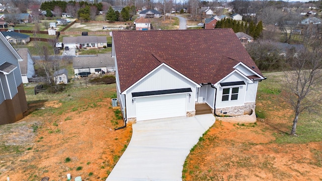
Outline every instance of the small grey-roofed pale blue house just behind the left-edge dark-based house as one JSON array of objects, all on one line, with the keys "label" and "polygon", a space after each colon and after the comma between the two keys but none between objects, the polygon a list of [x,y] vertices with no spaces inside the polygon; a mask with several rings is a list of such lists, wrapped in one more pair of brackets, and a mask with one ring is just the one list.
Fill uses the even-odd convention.
[{"label": "small grey-roofed pale blue house just behind the left-edge dark-based house", "polygon": [[21,77],[23,83],[29,83],[28,78],[32,78],[35,75],[35,62],[28,48],[19,48],[17,50],[20,57],[23,59],[19,62],[19,67],[21,70]]}]

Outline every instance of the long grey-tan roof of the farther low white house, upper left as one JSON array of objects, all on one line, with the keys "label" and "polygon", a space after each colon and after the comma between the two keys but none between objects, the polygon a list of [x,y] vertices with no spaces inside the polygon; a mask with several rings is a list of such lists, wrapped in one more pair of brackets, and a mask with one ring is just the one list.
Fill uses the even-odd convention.
[{"label": "long grey-tan roof of the farther low white house, upper left", "polygon": [[107,42],[106,36],[77,36],[63,37],[63,43],[103,43]]}]

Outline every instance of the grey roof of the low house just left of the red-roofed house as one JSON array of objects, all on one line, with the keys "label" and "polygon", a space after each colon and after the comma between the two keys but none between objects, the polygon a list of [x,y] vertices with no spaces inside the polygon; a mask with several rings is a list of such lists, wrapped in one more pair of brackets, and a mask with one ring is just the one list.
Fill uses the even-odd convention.
[{"label": "grey roof of the low house just left of the red-roofed house", "polygon": [[73,68],[115,66],[111,53],[96,56],[77,56],[72,58]]}]

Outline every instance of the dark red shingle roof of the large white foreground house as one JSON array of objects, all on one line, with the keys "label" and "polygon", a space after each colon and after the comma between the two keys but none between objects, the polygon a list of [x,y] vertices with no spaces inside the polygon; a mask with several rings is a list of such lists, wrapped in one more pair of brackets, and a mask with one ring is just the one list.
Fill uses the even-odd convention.
[{"label": "dark red shingle roof of the large white foreground house", "polygon": [[162,63],[198,84],[218,82],[239,62],[262,75],[232,29],[115,31],[113,43],[121,92]]}]

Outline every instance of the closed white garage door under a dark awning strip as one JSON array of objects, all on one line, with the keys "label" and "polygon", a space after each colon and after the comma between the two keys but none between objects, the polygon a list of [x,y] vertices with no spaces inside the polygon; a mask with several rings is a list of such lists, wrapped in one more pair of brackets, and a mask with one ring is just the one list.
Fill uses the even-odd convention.
[{"label": "closed white garage door under a dark awning strip", "polygon": [[186,116],[187,95],[136,99],[136,121]]}]

